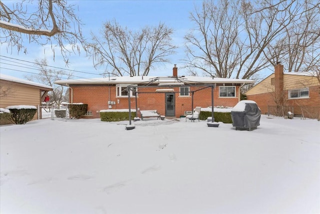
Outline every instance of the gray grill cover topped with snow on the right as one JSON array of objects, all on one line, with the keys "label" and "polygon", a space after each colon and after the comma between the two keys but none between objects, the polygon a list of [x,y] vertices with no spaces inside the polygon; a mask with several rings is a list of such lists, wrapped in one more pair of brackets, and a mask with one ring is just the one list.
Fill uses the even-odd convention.
[{"label": "gray grill cover topped with snow on the right", "polygon": [[232,126],[251,130],[260,125],[261,111],[256,103],[245,103],[244,111],[231,111]]}]

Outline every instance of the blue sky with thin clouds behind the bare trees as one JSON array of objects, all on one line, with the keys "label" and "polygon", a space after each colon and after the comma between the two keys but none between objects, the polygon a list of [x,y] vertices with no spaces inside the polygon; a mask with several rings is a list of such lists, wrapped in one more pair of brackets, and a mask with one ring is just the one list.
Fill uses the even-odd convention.
[{"label": "blue sky with thin clouds behind the bare trees", "polygon": [[[82,27],[83,35],[90,38],[90,32],[99,33],[102,29],[102,24],[106,21],[115,19],[122,27],[135,30],[146,25],[155,26],[160,22],[166,26],[174,29],[172,35],[172,42],[179,48],[177,53],[170,57],[171,63],[159,66],[154,71],[151,71],[149,75],[165,76],[172,74],[173,64],[177,64],[177,67],[182,66],[180,62],[184,58],[183,52],[183,36],[192,28],[192,23],[189,20],[189,13],[194,10],[194,7],[199,7],[201,1],[68,1],[69,4],[78,6],[78,11],[75,13],[78,15],[84,26]],[[53,61],[52,53],[49,47],[41,47],[37,44],[25,44],[27,47],[27,54],[17,53],[16,48],[13,47],[7,51],[5,46],[1,46],[1,56],[13,58],[1,57],[1,70],[3,74],[10,76],[23,78],[24,76],[31,75],[30,73],[36,73],[34,69],[27,69],[22,67],[12,67],[10,65],[2,64],[14,64],[10,61],[16,61],[15,59],[24,60],[28,62],[34,62],[35,59],[43,59],[44,57],[48,61],[48,65],[59,68],[65,68],[65,64],[62,58],[59,56],[59,52],[55,53],[55,60]],[[5,60],[3,60],[5,59]],[[32,63],[23,62],[25,65],[33,66]],[[24,67],[29,67],[24,66]],[[12,71],[5,68],[11,68]],[[92,60],[85,56],[85,53],[81,53],[80,56],[74,55],[70,57],[70,64],[67,69],[75,71],[83,71],[95,74],[104,73],[104,68],[95,70],[92,65]],[[23,72],[24,71],[24,72]],[[100,77],[98,75],[87,75],[83,73],[74,72],[75,78],[95,78]],[[179,75],[185,75],[185,70],[178,69]]]}]

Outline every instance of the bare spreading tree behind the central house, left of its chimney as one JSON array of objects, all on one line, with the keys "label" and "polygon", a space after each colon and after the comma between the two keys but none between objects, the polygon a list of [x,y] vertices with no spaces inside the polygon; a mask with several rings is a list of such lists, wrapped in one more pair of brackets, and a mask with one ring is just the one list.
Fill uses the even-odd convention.
[{"label": "bare spreading tree behind the central house, left of its chimney", "polygon": [[164,24],[144,27],[136,32],[115,21],[103,26],[102,38],[92,35],[88,45],[94,66],[107,66],[114,75],[147,76],[157,63],[169,62],[176,48],[171,44],[173,30]]}]

